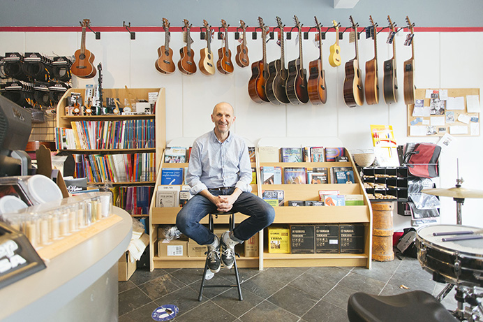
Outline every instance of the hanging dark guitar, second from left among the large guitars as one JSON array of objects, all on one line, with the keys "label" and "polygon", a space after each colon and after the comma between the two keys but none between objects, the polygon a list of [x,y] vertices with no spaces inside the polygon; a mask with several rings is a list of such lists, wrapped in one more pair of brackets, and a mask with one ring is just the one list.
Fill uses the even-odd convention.
[{"label": "hanging dark guitar, second from left among the large guitars", "polygon": [[278,35],[280,36],[280,59],[276,59],[268,64],[268,79],[265,86],[267,98],[270,102],[278,105],[280,103],[290,103],[285,92],[285,83],[287,82],[288,71],[285,68],[285,41],[283,36],[283,24],[279,17],[276,17],[278,28],[280,29]]}]

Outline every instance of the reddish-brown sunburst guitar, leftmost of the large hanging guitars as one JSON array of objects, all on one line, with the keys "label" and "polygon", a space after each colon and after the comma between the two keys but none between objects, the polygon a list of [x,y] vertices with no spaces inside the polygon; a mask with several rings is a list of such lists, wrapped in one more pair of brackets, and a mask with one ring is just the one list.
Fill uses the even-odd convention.
[{"label": "reddish-brown sunburst guitar, leftmost of the large hanging guitars", "polygon": [[263,58],[251,64],[251,78],[248,80],[248,95],[255,103],[269,102],[265,92],[265,83],[268,78],[267,67],[267,43],[265,38],[269,28],[265,26],[261,17],[258,17],[260,29],[262,29]]}]

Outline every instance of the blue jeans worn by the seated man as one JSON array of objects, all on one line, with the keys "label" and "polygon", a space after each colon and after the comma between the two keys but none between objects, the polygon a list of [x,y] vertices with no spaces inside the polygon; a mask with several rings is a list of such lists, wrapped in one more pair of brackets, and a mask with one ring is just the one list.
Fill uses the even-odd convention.
[{"label": "blue jeans worn by the seated man", "polygon": [[[220,196],[222,194],[230,195],[234,190],[235,188],[224,191],[209,189],[209,192],[214,196]],[[233,230],[235,240],[240,243],[272,224],[275,219],[274,208],[251,192],[242,192],[233,204],[232,210],[250,216],[241,221]],[[188,200],[188,203],[178,212],[176,226],[181,233],[195,240],[198,244],[211,244],[214,242],[214,233],[211,233],[206,226],[200,224],[200,220],[212,212],[216,212],[216,205],[198,194]]]}]

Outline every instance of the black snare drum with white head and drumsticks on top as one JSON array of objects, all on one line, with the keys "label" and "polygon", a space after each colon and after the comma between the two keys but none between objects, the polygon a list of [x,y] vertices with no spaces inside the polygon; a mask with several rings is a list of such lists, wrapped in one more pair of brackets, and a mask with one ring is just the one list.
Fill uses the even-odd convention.
[{"label": "black snare drum with white head and drumsticks on top", "polygon": [[481,235],[482,228],[462,225],[419,228],[417,259],[424,270],[433,273],[433,276],[435,272],[438,273],[448,283],[483,287],[483,239],[443,242],[442,238],[456,235],[433,235],[457,231],[473,231]]}]

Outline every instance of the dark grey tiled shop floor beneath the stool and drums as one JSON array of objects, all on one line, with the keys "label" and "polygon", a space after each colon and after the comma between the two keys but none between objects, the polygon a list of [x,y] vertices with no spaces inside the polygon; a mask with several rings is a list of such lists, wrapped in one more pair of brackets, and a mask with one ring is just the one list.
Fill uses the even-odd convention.
[{"label": "dark grey tiled shop floor beneath the stool and drums", "polygon": [[[205,288],[198,302],[202,270],[137,270],[129,281],[119,282],[119,321],[154,321],[154,309],[168,304],[179,307],[172,321],[348,321],[347,302],[352,293],[394,295],[423,290],[438,295],[444,286],[434,282],[415,258],[373,261],[371,270],[244,268],[239,272],[243,301],[238,300],[236,288]],[[222,268],[209,282],[225,284],[226,279],[235,283],[232,272]],[[456,309],[454,291],[443,304]]]}]

